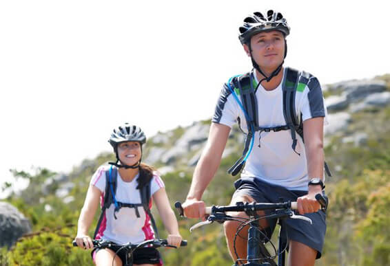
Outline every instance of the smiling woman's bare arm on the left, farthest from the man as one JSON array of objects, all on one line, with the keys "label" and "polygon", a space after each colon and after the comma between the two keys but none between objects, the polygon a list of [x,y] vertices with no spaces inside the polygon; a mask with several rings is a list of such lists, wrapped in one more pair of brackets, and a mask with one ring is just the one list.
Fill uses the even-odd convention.
[{"label": "smiling woman's bare arm on the left, farthest from the man", "polygon": [[88,230],[94,219],[96,209],[99,206],[101,191],[96,186],[90,185],[88,188],[87,196],[85,197],[83,208],[81,208],[81,213],[79,217],[79,222],[77,226],[77,236],[76,243],[79,247],[92,248],[92,239],[88,236]]}]

